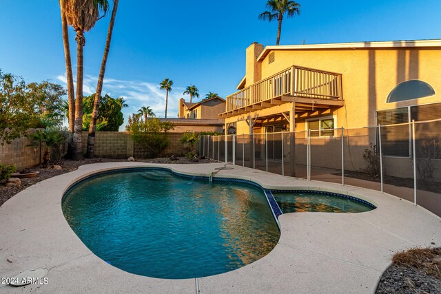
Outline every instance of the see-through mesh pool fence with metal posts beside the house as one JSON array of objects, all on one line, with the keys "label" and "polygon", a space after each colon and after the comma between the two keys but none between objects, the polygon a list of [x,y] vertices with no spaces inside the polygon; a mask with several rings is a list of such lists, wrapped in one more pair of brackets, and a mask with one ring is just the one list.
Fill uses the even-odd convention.
[{"label": "see-through mesh pool fence with metal posts beside the house", "polygon": [[282,176],[338,182],[441,216],[441,119],[358,129],[201,136],[199,154]]}]

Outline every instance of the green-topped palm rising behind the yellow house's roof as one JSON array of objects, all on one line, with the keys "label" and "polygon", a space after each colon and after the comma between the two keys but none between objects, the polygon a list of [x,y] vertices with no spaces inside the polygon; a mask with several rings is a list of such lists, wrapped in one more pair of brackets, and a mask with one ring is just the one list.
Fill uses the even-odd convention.
[{"label": "green-topped palm rising behind the yellow house's roof", "polygon": [[288,17],[294,17],[294,15],[300,14],[300,4],[289,0],[268,0],[267,8],[271,11],[265,11],[259,14],[258,19],[263,21],[278,20],[277,42],[280,41],[280,32],[282,31],[283,15],[286,13]]}]

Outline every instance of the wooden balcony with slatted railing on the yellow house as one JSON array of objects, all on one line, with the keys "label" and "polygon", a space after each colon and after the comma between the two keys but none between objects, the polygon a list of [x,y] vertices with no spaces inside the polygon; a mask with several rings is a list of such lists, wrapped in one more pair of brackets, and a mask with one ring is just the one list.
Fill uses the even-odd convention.
[{"label": "wooden balcony with slatted railing on the yellow house", "polygon": [[342,106],[342,75],[293,65],[227,96],[227,118],[287,102]]}]

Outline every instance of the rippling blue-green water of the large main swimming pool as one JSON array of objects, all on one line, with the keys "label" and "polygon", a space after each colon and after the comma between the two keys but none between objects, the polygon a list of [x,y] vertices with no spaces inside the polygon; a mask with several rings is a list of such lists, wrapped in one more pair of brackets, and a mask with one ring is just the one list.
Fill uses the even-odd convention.
[{"label": "rippling blue-green water of the large main swimming pool", "polygon": [[168,171],[97,176],[74,186],[63,213],[99,258],[150,277],[204,277],[271,251],[280,231],[262,189]]}]

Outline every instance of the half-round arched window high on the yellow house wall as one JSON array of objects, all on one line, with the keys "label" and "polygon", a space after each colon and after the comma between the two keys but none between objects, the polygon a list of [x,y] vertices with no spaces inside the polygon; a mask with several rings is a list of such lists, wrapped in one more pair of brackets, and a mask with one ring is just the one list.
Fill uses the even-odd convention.
[{"label": "half-round arched window high on the yellow house wall", "polygon": [[433,87],[420,80],[405,81],[398,84],[387,96],[387,103],[400,102],[411,99],[435,95]]}]

